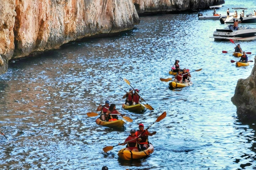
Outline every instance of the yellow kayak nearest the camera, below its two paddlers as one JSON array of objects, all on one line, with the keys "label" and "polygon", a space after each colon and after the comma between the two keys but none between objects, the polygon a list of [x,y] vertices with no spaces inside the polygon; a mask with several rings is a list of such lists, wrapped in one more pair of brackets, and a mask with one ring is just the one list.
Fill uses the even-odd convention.
[{"label": "yellow kayak nearest the camera, below its two paddlers", "polygon": [[146,156],[149,156],[151,153],[154,152],[154,146],[149,143],[149,147],[147,150],[143,150],[140,152],[134,152],[134,151],[129,151],[125,150],[125,148],[121,149],[118,151],[118,157],[123,160],[132,160],[132,159],[141,159]]}]

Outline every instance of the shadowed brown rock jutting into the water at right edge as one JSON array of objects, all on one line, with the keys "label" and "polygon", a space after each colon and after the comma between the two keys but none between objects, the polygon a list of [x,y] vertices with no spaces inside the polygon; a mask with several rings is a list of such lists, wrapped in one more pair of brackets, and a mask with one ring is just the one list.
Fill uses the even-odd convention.
[{"label": "shadowed brown rock jutting into the water at right edge", "polygon": [[256,55],[251,75],[246,79],[239,79],[235,94],[231,101],[237,107],[237,115],[241,119],[256,119]]}]

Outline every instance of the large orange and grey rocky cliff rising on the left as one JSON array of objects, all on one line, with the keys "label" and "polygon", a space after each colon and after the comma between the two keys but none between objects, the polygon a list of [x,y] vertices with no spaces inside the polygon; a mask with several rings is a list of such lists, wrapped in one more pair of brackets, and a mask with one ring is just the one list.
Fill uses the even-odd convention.
[{"label": "large orange and grey rocky cliff rising on the left", "polygon": [[8,60],[76,39],[132,29],[131,0],[0,0],[0,73]]}]

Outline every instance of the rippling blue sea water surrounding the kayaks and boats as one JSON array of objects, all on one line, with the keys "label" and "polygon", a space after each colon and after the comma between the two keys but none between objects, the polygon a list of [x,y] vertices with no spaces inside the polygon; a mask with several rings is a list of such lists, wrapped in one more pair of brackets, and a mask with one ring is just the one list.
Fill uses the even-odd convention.
[{"label": "rippling blue sea water surrounding the kayaks and boats", "polygon": [[[231,8],[235,1],[226,2]],[[248,4],[251,5],[252,2]],[[222,9],[226,11],[226,9]],[[209,11],[205,11],[209,12]],[[10,62],[0,76],[1,169],[253,169],[255,124],[241,123],[230,98],[239,78],[250,75],[253,65],[237,68],[222,50],[230,42],[209,39],[219,21],[199,21],[196,13],[141,17],[134,30],[108,38],[71,42],[36,58]],[[255,41],[242,42],[255,53]],[[254,55],[249,55],[253,59]],[[168,89],[168,71],[174,60],[193,72],[193,86]],[[98,103],[110,100],[121,113],[123,78],[140,90],[155,110],[139,116],[126,129],[97,126]],[[143,123],[157,131],[149,141],[154,153],[145,159],[122,161],[116,146],[131,128]],[[128,115],[127,115],[128,116]]]}]

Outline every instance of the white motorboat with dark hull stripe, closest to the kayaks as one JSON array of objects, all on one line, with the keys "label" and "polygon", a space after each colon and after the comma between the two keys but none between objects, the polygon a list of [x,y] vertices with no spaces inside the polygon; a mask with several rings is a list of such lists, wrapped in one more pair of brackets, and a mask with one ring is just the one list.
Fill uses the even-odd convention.
[{"label": "white motorboat with dark hull stripe, closest to the kayaks", "polygon": [[232,40],[255,40],[256,28],[249,25],[241,25],[238,30],[233,30],[233,26],[229,25],[224,29],[216,29],[213,32],[214,41],[229,41]]}]

